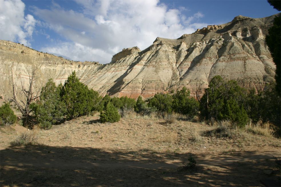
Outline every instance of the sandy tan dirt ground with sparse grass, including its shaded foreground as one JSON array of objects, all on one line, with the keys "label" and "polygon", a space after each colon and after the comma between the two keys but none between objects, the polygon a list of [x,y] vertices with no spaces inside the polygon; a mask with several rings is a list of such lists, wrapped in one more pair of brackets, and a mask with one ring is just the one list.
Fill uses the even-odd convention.
[{"label": "sandy tan dirt ground with sparse grass, including its shaded foreground", "polygon": [[[81,117],[51,130],[1,128],[1,186],[264,186],[280,180],[280,139],[239,132],[208,136],[215,127],[179,120],[121,118],[100,124]],[[35,146],[10,146],[22,132]],[[188,158],[194,169],[186,170]],[[280,183],[279,183],[280,184]]]}]

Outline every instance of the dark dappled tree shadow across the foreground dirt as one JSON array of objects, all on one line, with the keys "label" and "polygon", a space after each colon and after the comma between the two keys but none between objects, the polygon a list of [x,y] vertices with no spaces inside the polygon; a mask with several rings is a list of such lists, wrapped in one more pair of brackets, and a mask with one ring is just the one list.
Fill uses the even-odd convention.
[{"label": "dark dappled tree shadow across the foreground dirt", "polygon": [[[27,146],[1,150],[1,186],[262,186],[276,178],[271,152],[192,155],[194,171],[179,169],[191,154],[152,150]],[[265,174],[265,170],[272,170]],[[274,173],[275,172],[275,173]]]}]

